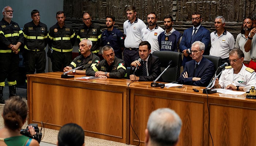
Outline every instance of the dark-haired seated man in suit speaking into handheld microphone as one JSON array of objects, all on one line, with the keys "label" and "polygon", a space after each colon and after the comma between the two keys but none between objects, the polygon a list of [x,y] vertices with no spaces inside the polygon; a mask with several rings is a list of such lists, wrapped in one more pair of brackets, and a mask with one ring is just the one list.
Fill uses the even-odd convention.
[{"label": "dark-haired seated man in suit speaking into handheld microphone", "polygon": [[[138,61],[138,59],[141,59]],[[139,57],[135,58],[135,61],[131,63],[131,66],[138,65],[138,68],[135,71],[135,68],[133,68],[134,74],[130,75],[131,81],[154,81],[160,74],[161,74],[161,68],[160,68],[160,59],[154,55],[151,54],[151,45],[148,41],[142,41],[139,44]],[[158,81],[161,81],[158,80]]]}]

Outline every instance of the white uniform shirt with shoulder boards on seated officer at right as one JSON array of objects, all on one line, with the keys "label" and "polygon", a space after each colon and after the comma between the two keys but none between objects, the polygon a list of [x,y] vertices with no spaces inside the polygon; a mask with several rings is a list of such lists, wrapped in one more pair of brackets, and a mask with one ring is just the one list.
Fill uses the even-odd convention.
[{"label": "white uniform shirt with shoulder boards on seated officer at right", "polygon": [[255,85],[256,83],[256,73],[249,72],[245,70],[247,67],[243,64],[240,72],[238,74],[234,74],[234,69],[229,68],[225,69],[221,77],[219,78],[219,85],[221,88],[226,88],[227,85],[233,84],[234,86],[246,87]]}]

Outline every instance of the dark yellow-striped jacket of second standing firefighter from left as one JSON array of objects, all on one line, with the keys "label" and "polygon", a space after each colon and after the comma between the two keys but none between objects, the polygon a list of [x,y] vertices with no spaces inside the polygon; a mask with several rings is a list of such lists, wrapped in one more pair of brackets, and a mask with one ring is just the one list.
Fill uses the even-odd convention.
[{"label": "dark yellow-striped jacket of second standing firefighter from left", "polygon": [[24,25],[24,48],[27,50],[45,50],[48,43],[48,29],[46,24],[39,22],[36,26],[33,21]]}]

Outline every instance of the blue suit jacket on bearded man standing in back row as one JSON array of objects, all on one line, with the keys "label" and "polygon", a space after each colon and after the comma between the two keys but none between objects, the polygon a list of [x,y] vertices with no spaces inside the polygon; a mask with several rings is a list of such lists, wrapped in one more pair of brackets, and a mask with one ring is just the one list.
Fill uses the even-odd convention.
[{"label": "blue suit jacket on bearded man standing in back row", "polygon": [[[182,53],[183,50],[186,49],[191,49],[191,45],[193,42],[195,41],[201,41],[204,43],[205,48],[207,49],[208,44],[211,41],[211,37],[210,37],[210,32],[204,28],[202,25],[199,27],[199,29],[197,30],[195,37],[193,38],[193,40],[191,40],[192,37],[192,32],[193,32],[193,27],[188,28],[187,30],[184,31],[183,35],[182,35],[182,39],[180,42],[180,52]],[[182,60],[182,66],[185,66],[185,63],[192,60],[191,57],[185,57]]]}]

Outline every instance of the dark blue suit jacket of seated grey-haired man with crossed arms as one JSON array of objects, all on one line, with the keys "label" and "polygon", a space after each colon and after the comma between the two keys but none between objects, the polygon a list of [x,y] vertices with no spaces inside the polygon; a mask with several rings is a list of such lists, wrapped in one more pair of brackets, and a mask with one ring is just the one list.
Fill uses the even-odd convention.
[{"label": "dark blue suit jacket of seated grey-haired man with crossed arms", "polygon": [[195,73],[195,77],[199,77],[201,80],[192,81],[195,65],[195,60],[191,60],[186,63],[182,74],[187,72],[188,78],[184,78],[181,74],[181,76],[178,78],[179,84],[207,87],[215,73],[214,64],[210,60],[203,57]]}]

